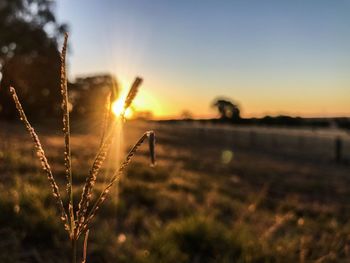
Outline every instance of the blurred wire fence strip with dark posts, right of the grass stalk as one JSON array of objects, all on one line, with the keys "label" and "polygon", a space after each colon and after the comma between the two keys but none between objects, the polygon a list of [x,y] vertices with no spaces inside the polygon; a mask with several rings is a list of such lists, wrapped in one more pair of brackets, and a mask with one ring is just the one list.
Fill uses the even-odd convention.
[{"label": "blurred wire fence strip with dark posts, right of the grass stalk", "polygon": [[247,126],[157,124],[155,129],[194,135],[222,147],[241,147],[305,159],[350,163],[350,135],[341,130],[307,130]]}]

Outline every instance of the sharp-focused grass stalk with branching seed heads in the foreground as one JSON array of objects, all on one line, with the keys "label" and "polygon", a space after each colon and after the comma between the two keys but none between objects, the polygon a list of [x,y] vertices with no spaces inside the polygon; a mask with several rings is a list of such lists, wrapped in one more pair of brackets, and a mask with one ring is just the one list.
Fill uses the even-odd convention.
[{"label": "sharp-focused grass stalk with branching seed heads in the foreground", "polygon": [[[86,262],[86,249],[88,242],[89,230],[91,228],[92,219],[95,217],[97,210],[100,208],[101,204],[108,197],[108,193],[111,187],[120,179],[120,176],[123,174],[134,154],[140,145],[148,139],[149,149],[151,156],[152,165],[155,164],[155,135],[153,131],[147,131],[144,133],[141,138],[136,142],[132,147],[129,153],[126,155],[124,162],[120,167],[113,173],[110,178],[109,183],[105,186],[103,191],[100,193],[98,198],[94,201],[93,205],[90,205],[92,190],[95,185],[97,176],[100,173],[100,169],[103,165],[104,160],[106,159],[109,148],[113,142],[114,131],[116,130],[117,122],[115,118],[111,115],[111,96],[107,98],[106,107],[107,111],[104,116],[102,138],[100,148],[96,154],[92,167],[89,171],[89,174],[86,178],[85,185],[83,187],[83,192],[79,201],[78,207],[74,207],[74,195],[73,195],[73,174],[72,174],[72,165],[71,165],[71,147],[70,147],[70,124],[69,124],[69,109],[68,109],[68,89],[67,89],[67,74],[66,74],[66,50],[67,50],[67,39],[68,35],[65,35],[64,44],[61,53],[61,93],[62,93],[62,109],[63,109],[63,133],[65,141],[65,151],[64,151],[64,162],[65,162],[65,174],[67,180],[67,195],[69,197],[69,202],[67,207],[65,207],[62,197],[60,195],[59,187],[53,176],[51,167],[47,161],[43,147],[41,146],[38,135],[36,134],[34,128],[29,123],[25,112],[22,108],[22,105],[17,97],[16,91],[13,87],[10,87],[10,92],[12,94],[13,100],[16,104],[16,108],[20,115],[21,121],[24,123],[26,129],[28,130],[35,146],[35,150],[38,158],[40,159],[41,166],[45,171],[47,178],[50,182],[53,197],[57,203],[57,208],[60,213],[60,219],[64,224],[65,230],[68,232],[69,239],[71,241],[72,249],[72,263],[77,262],[77,241],[84,235],[83,242],[83,259],[82,262]],[[130,91],[124,101],[123,111],[120,114],[119,118],[124,119],[125,111],[130,107],[132,101],[134,100],[138,88],[142,83],[141,78],[136,78],[132,84]]]}]

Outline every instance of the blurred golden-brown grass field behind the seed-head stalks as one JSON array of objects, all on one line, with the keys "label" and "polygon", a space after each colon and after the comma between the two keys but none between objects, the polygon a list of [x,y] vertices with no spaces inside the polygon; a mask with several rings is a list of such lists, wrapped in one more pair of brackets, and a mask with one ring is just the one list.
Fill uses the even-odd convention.
[{"label": "blurred golden-brown grass field behind the seed-head stalks", "polygon": [[[128,124],[125,149],[151,128],[157,166],[143,146],[94,221],[88,262],[348,262],[349,165],[291,157],[283,145],[243,147],[215,129],[202,136],[154,123]],[[44,126],[38,133],[64,193],[62,136]],[[97,132],[73,130],[76,185],[98,143]],[[0,262],[68,262],[32,148],[19,122],[0,123]],[[107,160],[97,190],[116,165]]]}]

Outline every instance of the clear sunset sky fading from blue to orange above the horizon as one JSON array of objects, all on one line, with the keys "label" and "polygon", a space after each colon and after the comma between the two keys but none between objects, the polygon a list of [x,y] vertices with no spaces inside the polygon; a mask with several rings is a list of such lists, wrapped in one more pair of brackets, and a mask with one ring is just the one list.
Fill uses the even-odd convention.
[{"label": "clear sunset sky fading from blue to orange above the horizon", "polygon": [[217,96],[243,116],[350,116],[349,0],[59,0],[70,76],[113,73],[166,118],[214,117]]}]

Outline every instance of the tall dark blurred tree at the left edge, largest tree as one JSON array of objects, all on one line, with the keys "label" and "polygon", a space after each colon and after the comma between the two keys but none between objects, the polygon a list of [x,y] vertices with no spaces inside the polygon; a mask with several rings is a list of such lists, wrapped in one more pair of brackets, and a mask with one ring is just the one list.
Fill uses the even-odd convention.
[{"label": "tall dark blurred tree at the left edge, largest tree", "polygon": [[[42,117],[59,107],[57,42],[66,30],[56,22],[51,0],[0,1],[0,116],[16,116],[8,93],[16,87],[28,115]],[[49,33],[48,33],[49,32]]]}]

